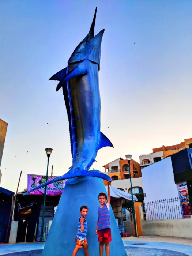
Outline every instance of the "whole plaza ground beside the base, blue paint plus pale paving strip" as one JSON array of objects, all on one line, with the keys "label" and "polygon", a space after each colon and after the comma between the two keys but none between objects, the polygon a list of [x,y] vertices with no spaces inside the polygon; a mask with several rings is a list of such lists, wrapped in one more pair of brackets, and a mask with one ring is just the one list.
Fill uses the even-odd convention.
[{"label": "whole plaza ground beside the base, blue paint plus pale paving strip", "polygon": [[[142,236],[125,237],[123,242],[128,256],[192,256],[192,238]],[[41,256],[43,248],[44,243],[2,244],[0,255]]]}]

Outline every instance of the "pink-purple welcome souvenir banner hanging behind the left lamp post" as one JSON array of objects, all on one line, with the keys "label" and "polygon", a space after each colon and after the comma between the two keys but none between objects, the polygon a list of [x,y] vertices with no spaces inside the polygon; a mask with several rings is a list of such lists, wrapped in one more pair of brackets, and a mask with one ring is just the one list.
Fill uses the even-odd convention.
[{"label": "pink-purple welcome souvenir banner hanging behind the left lamp post", "polygon": [[[53,180],[54,178],[57,178],[57,177],[59,176],[48,176],[48,180]],[[45,183],[45,181],[46,181],[46,176],[44,175],[27,174],[27,191],[37,187],[38,185]],[[47,186],[47,195],[60,196],[63,192],[66,181],[67,180],[60,180],[60,181],[56,181],[49,184]],[[29,194],[44,195],[44,193],[45,193],[45,187],[41,187],[39,189],[36,189],[30,192]]]}]

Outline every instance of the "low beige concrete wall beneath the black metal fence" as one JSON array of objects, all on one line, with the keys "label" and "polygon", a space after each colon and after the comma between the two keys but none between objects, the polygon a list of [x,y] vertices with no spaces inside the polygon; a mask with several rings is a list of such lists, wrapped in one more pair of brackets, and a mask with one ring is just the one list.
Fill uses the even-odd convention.
[{"label": "low beige concrete wall beneath the black metal fence", "polygon": [[163,219],[141,221],[142,236],[171,236],[192,238],[192,219]]}]

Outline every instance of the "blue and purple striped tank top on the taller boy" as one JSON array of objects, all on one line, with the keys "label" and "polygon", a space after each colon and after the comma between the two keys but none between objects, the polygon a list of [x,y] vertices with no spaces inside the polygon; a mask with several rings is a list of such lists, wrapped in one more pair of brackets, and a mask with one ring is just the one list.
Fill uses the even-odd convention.
[{"label": "blue and purple striped tank top on the taller boy", "polygon": [[110,228],[110,212],[105,204],[102,208],[98,208],[98,230]]}]

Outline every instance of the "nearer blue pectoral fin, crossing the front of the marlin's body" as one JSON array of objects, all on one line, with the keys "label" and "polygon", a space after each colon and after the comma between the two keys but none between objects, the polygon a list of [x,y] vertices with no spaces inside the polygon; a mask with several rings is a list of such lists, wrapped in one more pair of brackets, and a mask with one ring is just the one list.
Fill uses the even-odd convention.
[{"label": "nearer blue pectoral fin, crossing the front of the marlin's body", "polygon": [[61,80],[61,82],[57,85],[56,91],[58,91],[63,83],[69,81],[70,79],[79,76],[79,75],[85,75],[87,74],[87,68],[84,64],[84,61],[79,63],[74,69],[72,69],[68,74],[64,76],[64,78]]}]

